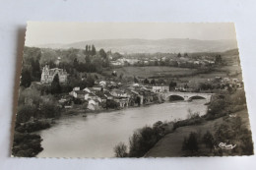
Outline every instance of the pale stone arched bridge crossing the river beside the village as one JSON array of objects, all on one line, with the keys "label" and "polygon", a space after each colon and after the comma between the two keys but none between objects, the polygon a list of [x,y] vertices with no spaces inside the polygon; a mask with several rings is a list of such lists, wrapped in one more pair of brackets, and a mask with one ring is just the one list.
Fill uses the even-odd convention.
[{"label": "pale stone arched bridge crossing the river beside the village", "polygon": [[164,100],[169,100],[171,96],[178,97],[181,100],[189,101],[193,99],[206,99],[207,102],[211,101],[213,93],[200,93],[200,92],[180,92],[180,91],[168,91],[161,93]]}]

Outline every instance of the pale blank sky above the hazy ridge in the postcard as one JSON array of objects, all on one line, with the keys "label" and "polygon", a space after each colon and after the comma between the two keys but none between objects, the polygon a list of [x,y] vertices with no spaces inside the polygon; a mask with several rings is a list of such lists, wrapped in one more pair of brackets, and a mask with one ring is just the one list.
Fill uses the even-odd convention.
[{"label": "pale blank sky above the hazy ridge in the postcard", "polygon": [[28,22],[27,46],[73,43],[94,39],[164,39],[201,40],[235,39],[232,23],[42,23]]}]

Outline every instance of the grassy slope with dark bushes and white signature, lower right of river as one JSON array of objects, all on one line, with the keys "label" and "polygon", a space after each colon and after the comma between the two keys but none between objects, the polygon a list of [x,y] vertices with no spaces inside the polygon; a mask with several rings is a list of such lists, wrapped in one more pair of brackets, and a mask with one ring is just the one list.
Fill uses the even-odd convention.
[{"label": "grassy slope with dark bushes and white signature, lower right of river", "polygon": [[251,155],[253,143],[249,125],[243,91],[216,96],[205,116],[176,122],[174,131],[157,142],[145,156]]}]

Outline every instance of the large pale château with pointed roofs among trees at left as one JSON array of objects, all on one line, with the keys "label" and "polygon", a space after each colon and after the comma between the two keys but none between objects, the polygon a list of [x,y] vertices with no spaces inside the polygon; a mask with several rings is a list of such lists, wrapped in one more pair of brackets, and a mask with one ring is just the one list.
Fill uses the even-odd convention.
[{"label": "large pale ch\u00e2teau with pointed roofs among trees at left", "polygon": [[63,69],[59,69],[59,68],[53,68],[50,69],[48,65],[45,65],[42,68],[42,72],[41,72],[41,83],[43,84],[48,84],[51,83],[55,77],[55,75],[59,76],[59,83],[66,83],[67,82],[67,72]]}]

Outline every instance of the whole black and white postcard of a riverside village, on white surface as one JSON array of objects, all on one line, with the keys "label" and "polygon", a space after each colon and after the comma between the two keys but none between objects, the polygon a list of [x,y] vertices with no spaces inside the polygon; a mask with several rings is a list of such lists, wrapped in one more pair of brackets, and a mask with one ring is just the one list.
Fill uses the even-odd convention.
[{"label": "whole black and white postcard of a riverside village, on white surface", "polygon": [[252,155],[232,23],[43,23],[26,32],[12,156]]}]

